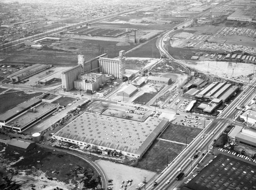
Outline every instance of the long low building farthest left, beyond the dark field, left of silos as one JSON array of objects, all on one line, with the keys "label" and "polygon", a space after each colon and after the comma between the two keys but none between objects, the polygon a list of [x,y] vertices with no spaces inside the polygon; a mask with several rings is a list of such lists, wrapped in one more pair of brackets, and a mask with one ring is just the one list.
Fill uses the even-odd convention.
[{"label": "long low building farthest left, beyond the dark field, left of silos", "polygon": [[20,71],[14,72],[13,74],[7,76],[7,78],[18,82],[20,80],[23,80],[25,78],[28,78],[30,76],[33,76],[39,72],[42,72],[48,68],[51,68],[52,65],[42,65],[42,64],[35,64],[30,67],[24,68]]}]

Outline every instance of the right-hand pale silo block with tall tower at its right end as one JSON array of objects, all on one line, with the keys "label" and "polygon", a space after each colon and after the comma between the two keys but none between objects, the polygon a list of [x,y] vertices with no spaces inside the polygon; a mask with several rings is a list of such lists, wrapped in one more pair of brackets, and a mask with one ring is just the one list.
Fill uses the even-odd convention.
[{"label": "right-hand pale silo block with tall tower at its right end", "polygon": [[118,59],[99,58],[100,72],[113,74],[116,78],[122,79],[125,73],[124,50],[119,51]]}]

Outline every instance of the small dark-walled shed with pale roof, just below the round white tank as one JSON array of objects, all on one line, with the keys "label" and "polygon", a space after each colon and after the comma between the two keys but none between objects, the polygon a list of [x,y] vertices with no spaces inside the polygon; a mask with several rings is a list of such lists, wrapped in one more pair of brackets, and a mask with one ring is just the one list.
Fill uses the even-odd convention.
[{"label": "small dark-walled shed with pale roof, just below the round white tank", "polygon": [[11,139],[8,143],[8,149],[11,151],[29,151],[34,149],[36,146],[35,142],[25,139]]}]

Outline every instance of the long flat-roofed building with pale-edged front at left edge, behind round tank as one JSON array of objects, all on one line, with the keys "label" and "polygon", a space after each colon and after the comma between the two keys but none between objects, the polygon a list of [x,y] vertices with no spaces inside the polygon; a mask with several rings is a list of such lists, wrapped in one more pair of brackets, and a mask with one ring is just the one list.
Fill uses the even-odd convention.
[{"label": "long flat-roofed building with pale-edged front at left edge, behind round tank", "polygon": [[0,127],[18,132],[31,127],[57,109],[56,105],[31,99],[0,115]]}]

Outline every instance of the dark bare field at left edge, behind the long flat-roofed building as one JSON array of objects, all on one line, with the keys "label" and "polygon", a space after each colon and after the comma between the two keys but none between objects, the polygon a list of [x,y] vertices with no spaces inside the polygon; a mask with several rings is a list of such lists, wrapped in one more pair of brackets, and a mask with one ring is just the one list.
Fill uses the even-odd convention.
[{"label": "dark bare field at left edge, behind the long flat-roofed building", "polygon": [[5,93],[0,95],[0,114],[5,113],[8,110],[11,110],[16,105],[28,101],[29,99],[41,95],[41,92],[38,93],[29,93],[27,94],[24,91]]}]

